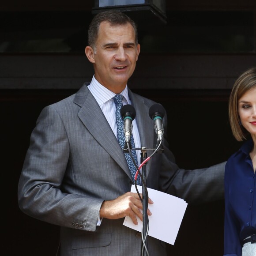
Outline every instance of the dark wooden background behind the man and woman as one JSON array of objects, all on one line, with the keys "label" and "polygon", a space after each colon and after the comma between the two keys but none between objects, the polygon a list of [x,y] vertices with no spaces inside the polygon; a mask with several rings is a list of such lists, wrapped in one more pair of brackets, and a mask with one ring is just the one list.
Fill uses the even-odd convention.
[{"label": "dark wooden background behind the man and woman", "polygon": [[[6,23],[3,25],[6,20],[1,23],[0,43],[14,36],[16,26],[19,33],[19,23],[26,18],[22,18],[23,11],[82,9],[88,13],[92,7],[93,1],[80,0],[68,4],[60,0],[41,4],[29,0],[4,1],[0,20],[7,14],[17,15],[19,19],[13,21],[10,31],[5,29]],[[254,22],[250,26],[254,30],[256,27],[255,0],[166,0],[166,9],[186,13],[195,10],[251,11]],[[249,52],[172,53],[166,49],[168,52],[159,53],[158,49],[154,53],[142,52],[139,56],[128,85],[134,92],[166,108],[168,131],[165,137],[181,168],[203,168],[226,161],[240,147],[241,143],[235,141],[230,131],[228,97],[238,75],[256,66],[255,38],[254,31],[254,46]],[[56,254],[59,227],[30,218],[19,210],[17,184],[30,133],[41,109],[75,93],[92,75],[92,66],[83,53],[0,53],[4,256]],[[223,227],[224,200],[188,205],[175,245],[167,246],[168,255],[222,256]]]}]

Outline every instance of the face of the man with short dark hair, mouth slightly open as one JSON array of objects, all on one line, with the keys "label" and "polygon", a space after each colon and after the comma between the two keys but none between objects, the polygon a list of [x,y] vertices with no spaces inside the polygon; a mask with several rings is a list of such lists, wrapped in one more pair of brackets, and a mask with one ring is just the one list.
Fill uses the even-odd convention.
[{"label": "face of the man with short dark hair, mouth slightly open", "polygon": [[99,83],[118,94],[134,72],[140,46],[136,45],[135,32],[131,24],[100,25],[95,52],[87,46],[85,52],[94,64],[95,78]]}]

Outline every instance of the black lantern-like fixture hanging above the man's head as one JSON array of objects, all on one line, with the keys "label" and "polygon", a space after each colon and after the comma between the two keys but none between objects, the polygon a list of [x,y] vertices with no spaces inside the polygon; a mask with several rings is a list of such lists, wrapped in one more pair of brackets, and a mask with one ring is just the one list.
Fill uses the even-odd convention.
[{"label": "black lantern-like fixture hanging above the man's head", "polygon": [[127,12],[138,25],[166,24],[166,0],[95,0],[92,14],[109,9]]}]

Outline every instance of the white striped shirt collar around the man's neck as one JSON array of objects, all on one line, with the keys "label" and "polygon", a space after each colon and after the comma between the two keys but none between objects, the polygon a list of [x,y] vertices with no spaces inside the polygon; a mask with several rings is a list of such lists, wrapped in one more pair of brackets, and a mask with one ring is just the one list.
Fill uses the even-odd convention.
[{"label": "white striped shirt collar around the man's neck", "polygon": [[[104,104],[116,95],[115,93],[113,93],[113,91],[107,89],[102,84],[100,84],[94,76],[91,80],[90,85],[88,86],[88,89],[93,94],[94,98],[96,99],[99,105]],[[122,94],[126,102],[130,104],[127,85],[120,94]]]}]

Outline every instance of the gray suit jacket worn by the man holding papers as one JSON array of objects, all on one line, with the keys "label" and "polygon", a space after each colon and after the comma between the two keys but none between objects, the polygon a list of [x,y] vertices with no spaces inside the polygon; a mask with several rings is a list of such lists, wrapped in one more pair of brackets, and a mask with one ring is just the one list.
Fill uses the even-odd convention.
[{"label": "gray suit jacket worn by the man holding papers", "polygon": [[[155,102],[129,90],[136,109],[141,145],[157,141],[148,111]],[[167,130],[167,117],[163,120]],[[225,163],[206,169],[180,169],[164,140],[164,153],[147,162],[147,187],[202,203],[224,197]],[[151,153],[148,154],[148,156]],[[45,107],[38,117],[19,180],[20,209],[60,226],[61,256],[138,256],[138,232],[124,219],[103,219],[104,200],[130,191],[132,176],[124,153],[87,85],[74,95]],[[166,255],[165,244],[148,237],[150,255]]]}]

